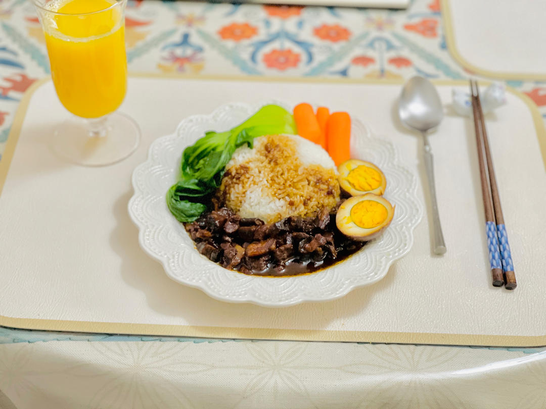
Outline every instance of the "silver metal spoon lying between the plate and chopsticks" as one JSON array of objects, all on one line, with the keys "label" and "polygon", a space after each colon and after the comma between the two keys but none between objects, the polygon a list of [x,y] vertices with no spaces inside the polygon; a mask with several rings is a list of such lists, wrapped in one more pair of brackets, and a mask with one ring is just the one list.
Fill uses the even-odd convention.
[{"label": "silver metal spoon lying between the plate and chopsticks", "polygon": [[429,80],[419,76],[413,77],[406,82],[398,101],[398,115],[406,127],[420,131],[423,134],[423,156],[429,182],[432,228],[434,229],[433,250],[435,254],[444,254],[446,244],[444,243],[442,226],[440,225],[440,215],[438,215],[432,150],[429,145],[429,137],[426,134],[432,128],[436,128],[443,118],[442,102],[434,85]]}]

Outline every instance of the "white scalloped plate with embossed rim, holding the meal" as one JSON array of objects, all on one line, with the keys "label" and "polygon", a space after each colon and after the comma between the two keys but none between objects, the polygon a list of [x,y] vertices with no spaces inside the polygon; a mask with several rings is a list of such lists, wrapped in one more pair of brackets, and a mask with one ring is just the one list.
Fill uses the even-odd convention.
[{"label": "white scalloped plate with embossed rim, holding the meal", "polygon": [[260,277],[227,270],[195,249],[193,240],[165,202],[167,190],[176,182],[182,151],[205,131],[231,129],[258,109],[259,106],[239,103],[224,105],[211,115],[184,119],[174,134],[151,144],[148,159],[133,172],[134,195],[129,201],[129,214],[140,230],[141,247],[163,264],[171,279],[226,302],[288,306],[324,301],[381,280],[390,264],[410,251],[413,229],[422,217],[423,207],[417,199],[416,177],[400,164],[393,144],[373,136],[354,117],[351,156],[369,160],[383,170],[387,177],[384,196],[396,205],[394,219],[381,237],[334,266],[291,277]]}]

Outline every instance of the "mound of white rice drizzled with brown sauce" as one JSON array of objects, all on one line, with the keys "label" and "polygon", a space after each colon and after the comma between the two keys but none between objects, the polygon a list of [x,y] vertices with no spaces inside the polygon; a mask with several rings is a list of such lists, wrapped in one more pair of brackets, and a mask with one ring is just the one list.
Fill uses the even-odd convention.
[{"label": "mound of white rice drizzled with brown sauce", "polygon": [[217,191],[219,202],[243,218],[267,223],[314,216],[340,196],[334,161],[321,146],[297,135],[268,135],[238,148]]}]

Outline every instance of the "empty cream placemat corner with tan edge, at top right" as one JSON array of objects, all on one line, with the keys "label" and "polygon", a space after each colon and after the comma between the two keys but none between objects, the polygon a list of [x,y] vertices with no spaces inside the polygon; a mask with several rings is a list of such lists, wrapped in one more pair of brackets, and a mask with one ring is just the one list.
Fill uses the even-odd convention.
[{"label": "empty cream placemat corner with tan edge, at top right", "polygon": [[442,0],[449,51],[486,77],[546,80],[546,2]]}]

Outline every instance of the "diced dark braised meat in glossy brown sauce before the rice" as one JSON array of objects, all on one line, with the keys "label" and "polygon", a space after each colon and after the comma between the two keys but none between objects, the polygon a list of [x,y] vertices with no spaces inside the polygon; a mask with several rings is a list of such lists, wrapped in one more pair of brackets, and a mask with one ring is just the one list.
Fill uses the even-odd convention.
[{"label": "diced dark braised meat in glossy brown sauce before the rice", "polygon": [[244,274],[282,276],[316,272],[360,250],[365,242],[347,238],[335,214],[288,217],[274,224],[243,219],[227,208],[203,213],[185,224],[197,250],[222,267]]}]

